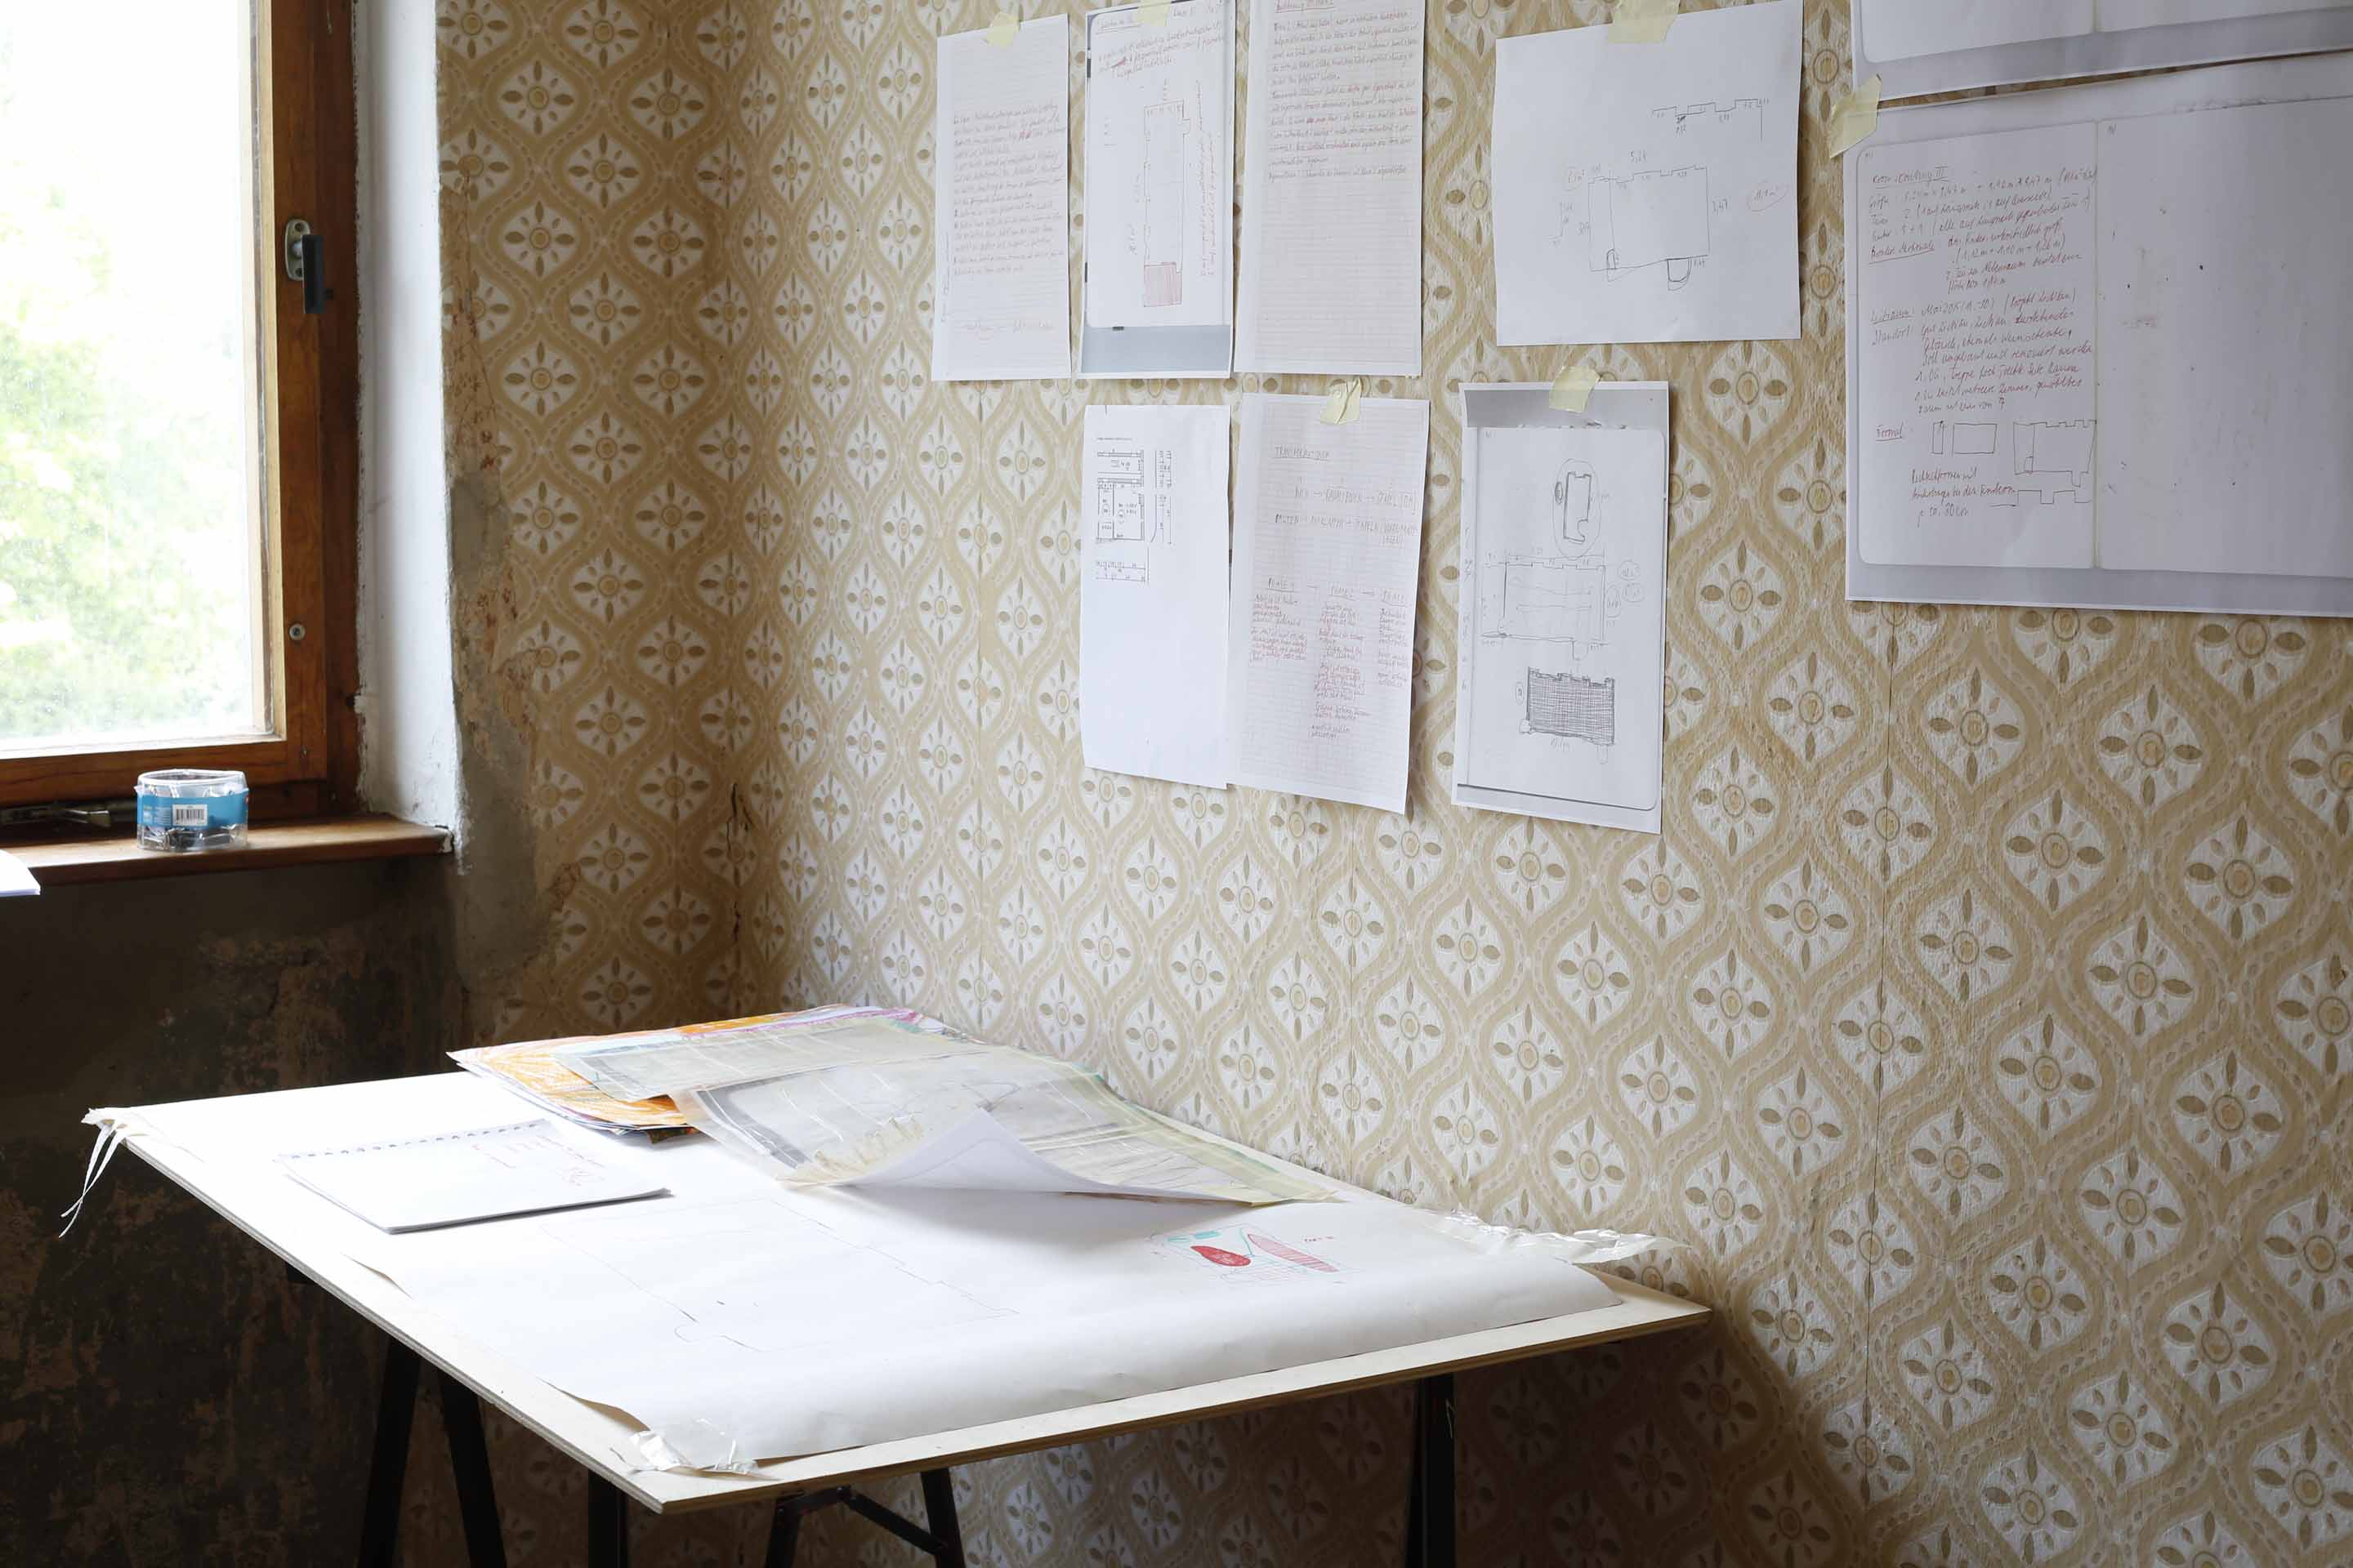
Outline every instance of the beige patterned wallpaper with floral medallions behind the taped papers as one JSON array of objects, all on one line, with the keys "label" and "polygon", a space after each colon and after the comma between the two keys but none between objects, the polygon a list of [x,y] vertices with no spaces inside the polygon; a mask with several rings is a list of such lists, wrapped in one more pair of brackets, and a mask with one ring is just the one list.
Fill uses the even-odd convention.
[{"label": "beige patterned wallpaper with floral medallions behind the taped papers", "polygon": [[[452,418],[511,512],[461,679],[555,912],[480,1032],[906,1001],[1400,1197],[1685,1239],[1711,1331],[1466,1382],[1473,1563],[2353,1561],[2353,625],[1845,602],[1845,5],[1805,336],[1579,350],[1675,388],[1661,837],[1445,802],[1452,393],[1567,353],[1492,343],[1492,45],[1605,7],[1431,7],[1431,374],[1367,386],[1435,402],[1402,816],[1080,766],[1080,409],[1318,383],[929,383],[934,35],[991,9],[440,2]],[[965,1526],[1386,1561],[1402,1441],[1384,1394],[969,1467]],[[525,1446],[508,1537],[560,1559]]]}]

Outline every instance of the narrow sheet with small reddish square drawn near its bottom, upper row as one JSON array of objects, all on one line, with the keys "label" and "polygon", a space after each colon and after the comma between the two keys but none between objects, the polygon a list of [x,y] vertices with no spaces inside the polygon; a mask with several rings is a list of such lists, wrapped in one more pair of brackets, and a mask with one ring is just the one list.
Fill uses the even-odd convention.
[{"label": "narrow sheet with small reddish square drawn near its bottom, upper row", "polygon": [[1233,5],[1087,16],[1087,327],[1233,320]]}]

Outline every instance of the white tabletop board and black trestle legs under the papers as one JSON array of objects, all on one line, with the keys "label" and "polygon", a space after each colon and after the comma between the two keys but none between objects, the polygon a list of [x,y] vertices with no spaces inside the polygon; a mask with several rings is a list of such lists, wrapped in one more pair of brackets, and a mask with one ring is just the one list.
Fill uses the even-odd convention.
[{"label": "white tabletop board and black trestle legs under the papers", "polygon": [[[332,1088],[292,1088],[268,1095],[238,1095],[245,1128],[282,1128],[275,1150],[304,1147],[306,1128],[332,1119],[336,1105],[393,1091],[398,1095],[433,1095],[466,1100],[492,1093],[494,1107],[513,1112],[515,1103],[489,1091],[464,1072],[435,1074],[428,1081],[393,1079],[386,1084],[339,1084]],[[188,1103],[186,1110],[224,1105]],[[151,1107],[167,1112],[167,1107]],[[492,1117],[494,1119],[494,1117]],[[1285,1366],[1247,1378],[1226,1378],[1193,1387],[1113,1399],[1104,1403],[1019,1415],[958,1432],[840,1448],[833,1453],[774,1460],[755,1472],[652,1472],[642,1469],[631,1446],[635,1422],[616,1410],[584,1403],[562,1389],[525,1373],[513,1361],[485,1349],[459,1326],[414,1302],[391,1279],[355,1262],[332,1237],[346,1220],[341,1211],[308,1187],[282,1175],[256,1147],[254,1138],[202,1138],[176,1131],[174,1140],[132,1133],[127,1147],[172,1182],[273,1251],[287,1267],[372,1321],[391,1335],[384,1366],[384,1399],[376,1410],[374,1462],[367,1481],[367,1516],[360,1561],[391,1563],[393,1530],[400,1516],[400,1483],[409,1448],[409,1415],[424,1363],[435,1368],[442,1387],[442,1420],[459,1479],[459,1509],[466,1547],[475,1566],[504,1563],[499,1512],[492,1500],[489,1455],[482,1443],[480,1399],[536,1432],[588,1469],[588,1540],[591,1563],[619,1566],[626,1554],[621,1497],[661,1512],[692,1512],[732,1505],[774,1507],[767,1561],[788,1566],[800,1519],[826,1505],[845,1505],[894,1535],[929,1552],[944,1568],[965,1561],[955,1526],[955,1502],[948,1490],[948,1467],[1035,1448],[1056,1448],[1094,1436],[1167,1427],[1231,1410],[1318,1399],[1351,1389],[1414,1382],[1414,1443],[1407,1493],[1407,1561],[1421,1568],[1454,1566],[1454,1373],[1501,1361],[1520,1361],[1579,1345],[1607,1345],[1668,1328],[1689,1328],[1708,1316],[1706,1307],[1605,1276],[1617,1305],[1572,1316],[1539,1319],[1508,1328],[1466,1333],[1421,1345],[1402,1345],[1360,1356]],[[642,1145],[614,1143],[612,1157],[652,1154]],[[746,1185],[767,1178],[746,1166]],[[1096,1199],[1104,1201],[1104,1199]],[[929,1528],[915,1526],[880,1502],[854,1493],[856,1481],[920,1472]]]}]

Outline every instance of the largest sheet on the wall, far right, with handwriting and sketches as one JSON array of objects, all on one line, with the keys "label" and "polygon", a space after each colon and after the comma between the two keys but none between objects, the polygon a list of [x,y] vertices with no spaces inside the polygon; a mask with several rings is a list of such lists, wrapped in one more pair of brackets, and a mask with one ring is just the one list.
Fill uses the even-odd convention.
[{"label": "largest sheet on the wall, far right, with handwriting and sketches", "polygon": [[2353,614],[2353,59],[1847,155],[1847,592]]}]

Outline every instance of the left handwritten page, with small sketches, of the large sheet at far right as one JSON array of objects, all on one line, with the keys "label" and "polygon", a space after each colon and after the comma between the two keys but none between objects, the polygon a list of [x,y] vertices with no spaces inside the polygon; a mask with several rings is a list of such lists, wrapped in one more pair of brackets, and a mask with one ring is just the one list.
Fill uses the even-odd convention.
[{"label": "left handwritten page, with small sketches, of the large sheet at far right", "polygon": [[1861,552],[2089,567],[2097,127],[1866,143]]}]

